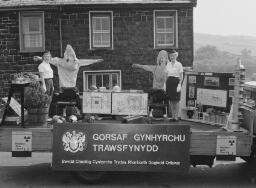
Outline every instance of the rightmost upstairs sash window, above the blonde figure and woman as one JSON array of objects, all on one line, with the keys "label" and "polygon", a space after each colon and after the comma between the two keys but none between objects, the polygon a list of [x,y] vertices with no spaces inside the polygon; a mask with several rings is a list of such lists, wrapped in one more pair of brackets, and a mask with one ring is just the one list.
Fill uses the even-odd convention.
[{"label": "rightmost upstairs sash window, above the blonde figure and woman", "polygon": [[178,47],[177,11],[154,11],[154,47]]}]

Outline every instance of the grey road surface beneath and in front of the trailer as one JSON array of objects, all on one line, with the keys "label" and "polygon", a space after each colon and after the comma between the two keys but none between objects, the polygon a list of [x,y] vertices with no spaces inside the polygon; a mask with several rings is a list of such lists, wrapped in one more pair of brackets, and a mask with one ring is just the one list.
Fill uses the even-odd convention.
[{"label": "grey road surface beneath and in front of the trailer", "polygon": [[33,153],[32,158],[11,158],[0,152],[0,187],[256,187],[256,164],[242,159],[218,161],[213,168],[191,167],[185,176],[168,173],[107,173],[96,184],[85,184],[68,172],[55,172],[50,167],[50,153]]}]

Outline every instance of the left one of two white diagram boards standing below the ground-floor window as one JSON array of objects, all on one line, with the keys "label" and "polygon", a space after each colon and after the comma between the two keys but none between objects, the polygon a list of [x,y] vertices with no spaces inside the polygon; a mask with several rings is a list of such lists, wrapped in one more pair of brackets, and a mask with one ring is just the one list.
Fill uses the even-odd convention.
[{"label": "left one of two white diagram boards standing below the ground-floor window", "polygon": [[85,91],[83,113],[111,114],[111,93]]}]

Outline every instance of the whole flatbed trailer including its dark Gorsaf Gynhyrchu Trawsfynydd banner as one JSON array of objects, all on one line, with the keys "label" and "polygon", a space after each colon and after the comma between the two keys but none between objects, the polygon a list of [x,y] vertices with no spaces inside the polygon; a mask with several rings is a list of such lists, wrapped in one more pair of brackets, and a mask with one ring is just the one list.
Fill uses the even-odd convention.
[{"label": "whole flatbed trailer including its dark Gorsaf Gynhyrchu Trawsfynydd banner", "polygon": [[[184,85],[187,85],[186,77]],[[183,88],[183,91],[186,91],[186,88]],[[181,98],[183,102],[186,101],[186,96],[182,96]],[[184,104],[183,107],[186,106]],[[187,108],[184,109],[187,110]],[[255,108],[241,104],[239,109],[242,113],[242,123],[239,125],[239,129],[233,130],[223,124],[206,122],[202,119],[183,118],[178,122],[170,122],[164,117],[152,118],[150,116],[144,116],[146,121],[140,123],[136,123],[136,121],[124,123],[119,118],[114,120],[111,116],[108,116],[102,120],[95,120],[93,123],[56,123],[41,127],[2,125],[0,126],[0,151],[13,152],[13,133],[29,133],[32,136],[30,148],[32,152],[52,152],[52,167],[54,170],[75,171],[87,181],[99,178],[103,171],[168,172],[170,170],[172,172],[178,172],[180,168],[181,171],[188,170],[191,165],[194,167],[196,165],[208,165],[211,167],[215,158],[235,160],[236,157],[241,157],[247,162],[255,162]],[[166,140],[149,140],[149,142],[144,142],[144,140],[138,140],[138,138],[134,137],[137,133],[167,136],[177,133],[182,135],[182,131],[184,130],[186,132],[184,133],[186,136],[185,144],[178,142],[167,143]],[[93,139],[92,135],[97,133],[120,134],[123,138],[121,141],[118,141],[116,137],[112,138],[110,136],[108,140],[105,138],[106,135],[103,135],[104,139],[102,138],[102,140],[96,137],[96,139]],[[127,135],[130,136],[130,134],[133,137],[131,136],[128,139]],[[227,142],[230,145],[227,145]],[[95,143],[100,143],[101,147],[105,147],[103,144],[116,144],[118,145],[117,147],[121,145],[120,148],[123,150],[127,149],[129,144],[155,144],[154,146],[161,148],[161,152],[127,152],[121,151],[120,148],[120,151],[104,152],[102,148],[99,149],[98,145],[93,145]],[[126,148],[123,145],[126,145]],[[107,149],[109,149],[109,146],[107,146]],[[65,155],[64,157],[62,157],[63,154]],[[182,158],[180,161],[179,157]],[[170,161],[168,161],[169,158]],[[83,164],[74,164],[74,159],[79,159],[77,160],[78,163],[82,162]],[[94,159],[98,160],[98,163],[104,164],[99,165],[97,161],[95,164],[91,164]],[[164,160],[166,161],[163,162]],[[175,167],[175,160],[176,162],[185,162],[180,167]],[[127,161],[134,163],[131,165]],[[157,163],[152,163],[153,165],[151,165],[152,161]]]}]

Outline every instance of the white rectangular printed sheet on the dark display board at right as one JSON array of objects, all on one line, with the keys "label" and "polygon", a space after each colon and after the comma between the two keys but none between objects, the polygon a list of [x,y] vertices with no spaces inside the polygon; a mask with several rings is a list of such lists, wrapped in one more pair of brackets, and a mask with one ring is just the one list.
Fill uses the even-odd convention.
[{"label": "white rectangular printed sheet on the dark display board at right", "polygon": [[227,91],[197,88],[197,103],[201,105],[226,107]]}]

